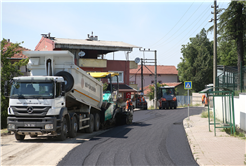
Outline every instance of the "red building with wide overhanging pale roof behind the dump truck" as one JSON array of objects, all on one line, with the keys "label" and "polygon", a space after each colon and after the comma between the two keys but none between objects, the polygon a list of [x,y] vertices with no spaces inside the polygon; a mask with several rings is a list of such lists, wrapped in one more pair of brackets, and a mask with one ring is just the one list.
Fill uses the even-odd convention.
[{"label": "red building with wide overhanging pale roof behind the dump truck", "polygon": [[127,94],[136,92],[129,86],[129,72],[138,65],[129,60],[107,60],[105,55],[116,51],[130,52],[133,48],[139,47],[124,42],[98,40],[93,34],[88,34],[87,39],[64,39],[51,37],[49,33],[42,34],[35,51],[69,50],[74,54],[75,64],[84,71],[119,73],[119,92],[125,98]]}]

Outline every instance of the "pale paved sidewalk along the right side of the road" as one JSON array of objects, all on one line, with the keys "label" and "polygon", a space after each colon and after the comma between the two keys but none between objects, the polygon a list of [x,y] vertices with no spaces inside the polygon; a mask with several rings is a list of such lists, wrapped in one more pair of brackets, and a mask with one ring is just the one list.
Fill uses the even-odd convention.
[{"label": "pale paved sidewalk along the right side of the road", "polygon": [[233,137],[211,125],[208,118],[194,115],[184,119],[184,128],[194,159],[199,165],[246,165],[245,140]]}]

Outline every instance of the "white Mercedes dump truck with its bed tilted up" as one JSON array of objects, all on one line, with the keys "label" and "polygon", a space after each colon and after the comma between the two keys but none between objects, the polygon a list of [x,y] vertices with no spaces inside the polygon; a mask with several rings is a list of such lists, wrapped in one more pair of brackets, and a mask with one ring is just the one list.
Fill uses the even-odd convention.
[{"label": "white Mercedes dump truck with its bed tilted up", "polygon": [[[76,137],[81,129],[97,131],[106,121],[115,121],[115,117],[132,120],[132,113],[118,108],[117,102],[107,101],[113,101],[113,90],[108,92],[106,100],[103,98],[103,84],[76,66],[71,52],[23,51],[23,54],[29,57],[31,75],[9,81],[7,124],[17,140],[23,140],[25,135],[43,134],[65,140],[67,136]],[[5,84],[7,95],[8,83]]]}]

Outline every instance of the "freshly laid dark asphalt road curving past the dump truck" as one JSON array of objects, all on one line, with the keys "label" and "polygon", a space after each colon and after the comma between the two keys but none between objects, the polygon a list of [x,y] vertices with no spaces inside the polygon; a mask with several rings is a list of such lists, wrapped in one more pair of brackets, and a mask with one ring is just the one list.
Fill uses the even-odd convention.
[{"label": "freshly laid dark asphalt road curving past the dump truck", "polygon": [[[190,115],[203,108],[190,108]],[[62,165],[198,165],[184,131],[187,108],[134,112],[132,125],[124,125],[72,149]]]}]

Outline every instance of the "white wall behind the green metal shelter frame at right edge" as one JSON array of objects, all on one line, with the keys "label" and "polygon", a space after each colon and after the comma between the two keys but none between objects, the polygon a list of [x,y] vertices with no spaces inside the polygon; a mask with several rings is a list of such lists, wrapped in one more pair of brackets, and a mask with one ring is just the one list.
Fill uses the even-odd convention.
[{"label": "white wall behind the green metal shelter frame at right edge", "polygon": [[[226,104],[222,105],[222,100]],[[224,117],[224,119],[227,118],[227,121],[229,121],[229,108],[229,97],[223,97],[223,99],[222,97],[215,97],[216,118],[222,121]],[[227,115],[223,114],[225,110]],[[234,115],[235,125],[246,131],[246,94],[239,94],[239,97],[234,97]],[[231,115],[231,117],[233,116]]]}]

